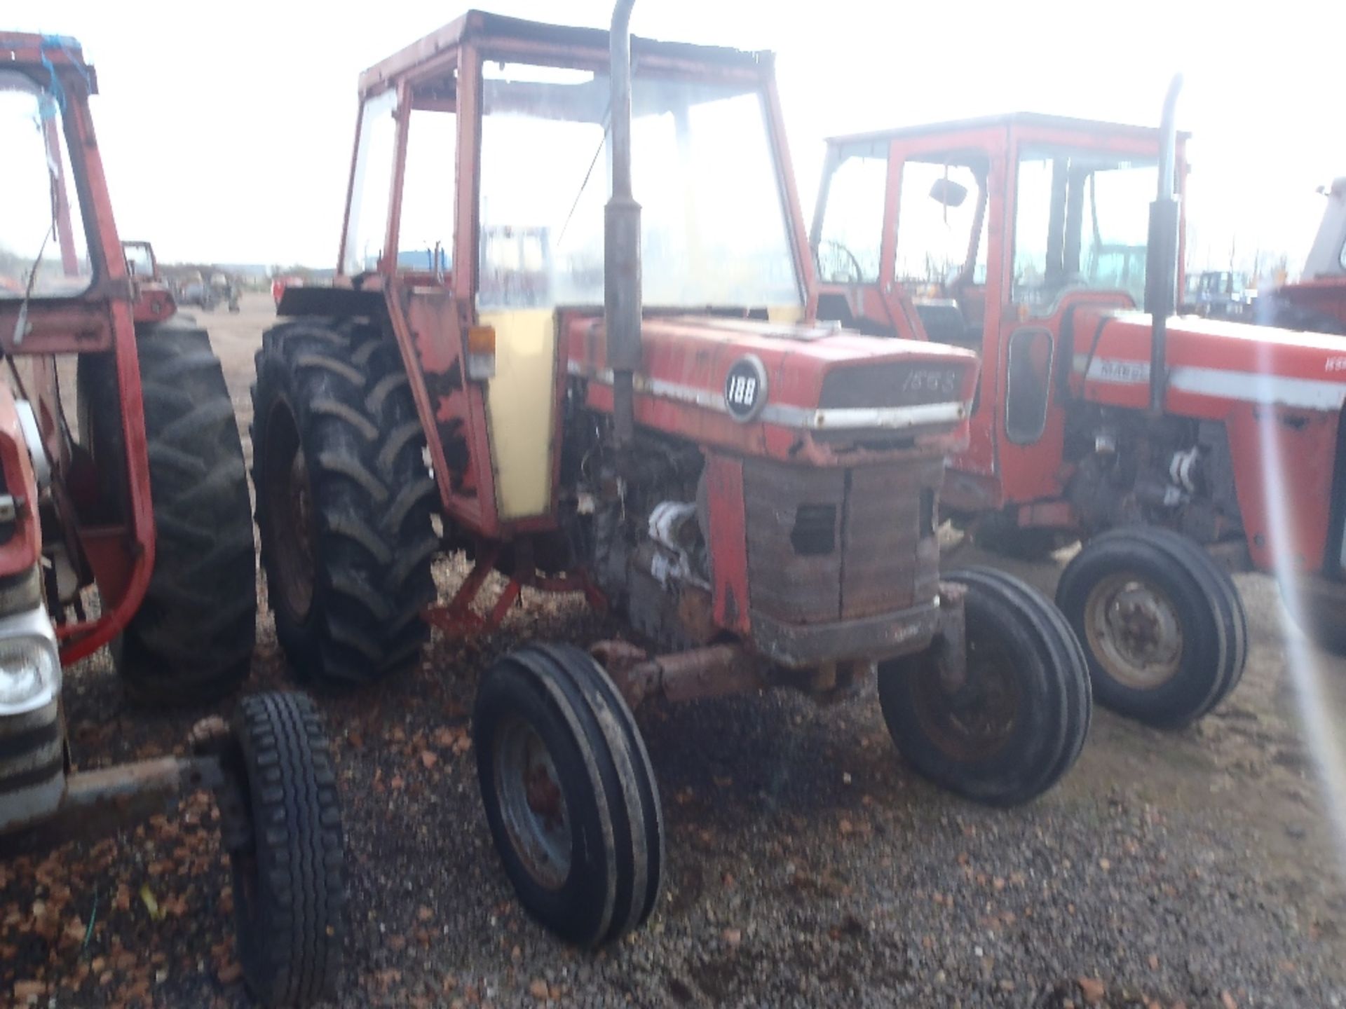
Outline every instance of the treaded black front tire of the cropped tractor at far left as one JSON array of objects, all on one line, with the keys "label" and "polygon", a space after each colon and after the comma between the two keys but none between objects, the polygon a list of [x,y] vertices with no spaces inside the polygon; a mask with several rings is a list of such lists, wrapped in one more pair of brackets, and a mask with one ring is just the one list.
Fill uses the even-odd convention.
[{"label": "treaded black front tire of the cropped tractor at far left", "polygon": [[331,997],[346,931],[346,861],[336,775],[312,701],[245,698],[227,760],[252,827],[230,852],[248,989],[268,1006]]}]

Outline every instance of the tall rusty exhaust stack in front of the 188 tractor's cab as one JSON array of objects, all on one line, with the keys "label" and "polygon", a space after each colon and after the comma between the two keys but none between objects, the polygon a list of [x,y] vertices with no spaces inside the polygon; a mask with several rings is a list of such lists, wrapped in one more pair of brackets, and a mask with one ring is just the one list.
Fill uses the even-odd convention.
[{"label": "tall rusty exhaust stack in front of the 188 tractor's cab", "polygon": [[618,0],[610,32],[612,195],[603,214],[603,317],[612,369],[616,448],[635,436],[634,373],[641,366],[641,204],[631,195],[631,8]]}]

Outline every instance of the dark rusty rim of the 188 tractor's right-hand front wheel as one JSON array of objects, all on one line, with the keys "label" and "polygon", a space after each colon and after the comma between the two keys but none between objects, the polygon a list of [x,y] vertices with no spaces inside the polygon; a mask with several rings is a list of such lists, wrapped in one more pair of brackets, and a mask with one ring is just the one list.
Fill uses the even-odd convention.
[{"label": "dark rusty rim of the 188 tractor's right-hand front wheel", "polygon": [[952,686],[940,662],[922,662],[913,675],[917,718],[925,735],[958,761],[984,760],[1010,740],[1019,721],[1020,692],[1014,657],[968,632],[966,675]]}]

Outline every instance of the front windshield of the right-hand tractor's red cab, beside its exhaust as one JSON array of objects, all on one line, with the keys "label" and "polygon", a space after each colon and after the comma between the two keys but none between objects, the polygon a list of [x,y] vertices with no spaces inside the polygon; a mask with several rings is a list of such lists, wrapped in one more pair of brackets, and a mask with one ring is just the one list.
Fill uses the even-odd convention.
[{"label": "front windshield of the right-hand tractor's red cab, beside its exhaust", "polygon": [[1024,148],[1015,204],[1012,297],[1050,307],[1066,289],[1145,296],[1154,159]]}]

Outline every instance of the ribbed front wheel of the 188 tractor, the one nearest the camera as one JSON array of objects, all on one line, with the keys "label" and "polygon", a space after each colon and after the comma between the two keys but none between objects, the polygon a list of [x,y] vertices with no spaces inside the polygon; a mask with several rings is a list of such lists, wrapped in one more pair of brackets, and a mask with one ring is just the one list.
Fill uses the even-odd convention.
[{"label": "ribbed front wheel of the 188 tractor, the one nearest the camera", "polygon": [[607,673],[569,646],[520,648],[482,678],[472,744],[486,821],[529,913],[584,947],[638,928],[662,885],[664,817]]}]

